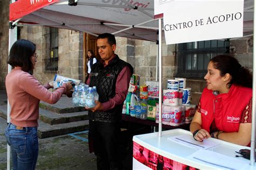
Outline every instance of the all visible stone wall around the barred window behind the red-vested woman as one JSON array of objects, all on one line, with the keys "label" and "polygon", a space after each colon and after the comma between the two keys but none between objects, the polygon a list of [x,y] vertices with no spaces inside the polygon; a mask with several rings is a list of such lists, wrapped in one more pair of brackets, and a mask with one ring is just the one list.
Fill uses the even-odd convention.
[{"label": "all visible stone wall around the barred window behind the red-vested woman", "polygon": [[[163,38],[164,41],[164,38]],[[176,56],[173,53],[175,45],[162,44],[162,84],[167,88],[167,80],[175,77]],[[156,80],[157,45],[154,42],[135,40],[134,73],[141,76],[140,83],[147,80]],[[252,70],[253,63],[253,37],[231,40],[230,55],[238,59],[240,64]],[[132,62],[130,62],[132,63]],[[205,80],[187,79],[186,87],[192,89],[192,104],[198,104],[201,93],[206,87]]]}]

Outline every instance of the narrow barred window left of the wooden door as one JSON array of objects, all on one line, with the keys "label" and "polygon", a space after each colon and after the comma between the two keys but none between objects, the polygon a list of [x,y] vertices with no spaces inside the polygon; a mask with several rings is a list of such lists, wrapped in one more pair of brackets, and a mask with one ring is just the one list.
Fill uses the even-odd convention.
[{"label": "narrow barred window left of the wooden door", "polygon": [[44,27],[44,72],[56,73],[58,70],[58,29],[53,27]]}]

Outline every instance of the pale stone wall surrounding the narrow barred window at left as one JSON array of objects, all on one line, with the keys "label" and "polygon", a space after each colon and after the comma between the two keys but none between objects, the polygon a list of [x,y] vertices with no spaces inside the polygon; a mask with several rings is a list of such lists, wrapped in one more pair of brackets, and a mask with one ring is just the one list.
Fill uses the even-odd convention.
[{"label": "pale stone wall surrounding the narrow barred window at left", "polygon": [[83,80],[83,33],[59,29],[58,72],[43,72],[43,27],[29,26],[21,28],[21,38],[34,42],[37,46],[38,59],[33,75],[42,83],[53,80],[56,73]]}]

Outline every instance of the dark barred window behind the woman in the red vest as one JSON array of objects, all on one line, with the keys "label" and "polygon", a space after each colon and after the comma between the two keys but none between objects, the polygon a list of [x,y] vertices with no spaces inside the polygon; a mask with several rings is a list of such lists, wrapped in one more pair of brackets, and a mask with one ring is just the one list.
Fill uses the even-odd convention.
[{"label": "dark barred window behind the woman in the red vest", "polygon": [[178,44],[177,77],[203,78],[216,55],[229,53],[229,40],[208,40]]}]

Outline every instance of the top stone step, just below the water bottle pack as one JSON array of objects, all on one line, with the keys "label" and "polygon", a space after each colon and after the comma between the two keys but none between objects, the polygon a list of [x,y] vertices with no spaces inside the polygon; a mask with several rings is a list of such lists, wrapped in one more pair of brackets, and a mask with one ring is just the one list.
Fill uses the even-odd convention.
[{"label": "top stone step, just below the water bottle pack", "polygon": [[84,107],[76,107],[72,103],[72,97],[62,96],[55,104],[40,102],[39,107],[45,110],[56,112],[57,114],[68,114],[72,112],[85,111]]}]

